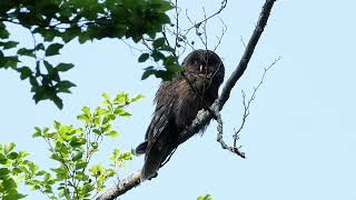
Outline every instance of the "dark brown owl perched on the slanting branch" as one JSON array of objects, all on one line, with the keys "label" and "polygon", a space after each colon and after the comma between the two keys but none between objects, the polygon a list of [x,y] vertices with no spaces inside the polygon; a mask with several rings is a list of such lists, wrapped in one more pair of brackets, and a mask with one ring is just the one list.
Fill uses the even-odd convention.
[{"label": "dark brown owl perched on the slanting branch", "polygon": [[146,154],[141,180],[156,176],[177,149],[179,133],[190,126],[199,110],[210,107],[218,97],[225,73],[219,56],[210,50],[195,50],[182,66],[178,77],[158,89],[145,142],[136,149],[138,154]]}]

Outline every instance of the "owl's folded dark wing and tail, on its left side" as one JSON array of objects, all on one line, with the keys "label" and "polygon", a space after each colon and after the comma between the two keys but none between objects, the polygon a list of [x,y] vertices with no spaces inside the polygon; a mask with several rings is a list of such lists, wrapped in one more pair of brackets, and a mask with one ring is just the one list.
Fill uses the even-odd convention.
[{"label": "owl's folded dark wing and tail, on its left side", "polygon": [[146,132],[146,141],[137,148],[137,152],[146,153],[142,179],[155,176],[177,147],[177,128],[174,119],[180,101],[176,91],[175,84],[169,82],[164,83],[156,94],[157,107]]}]

